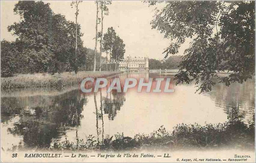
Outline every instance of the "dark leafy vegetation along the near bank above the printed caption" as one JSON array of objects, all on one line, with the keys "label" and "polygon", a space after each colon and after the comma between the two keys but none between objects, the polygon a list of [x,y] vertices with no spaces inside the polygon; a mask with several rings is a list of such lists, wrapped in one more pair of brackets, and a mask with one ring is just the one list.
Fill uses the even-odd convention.
[{"label": "dark leafy vegetation along the near bank above the printed caption", "polygon": [[133,138],[124,134],[97,142],[92,135],[84,142],[55,142],[52,149],[58,150],[178,150],[178,149],[214,149],[214,148],[240,148],[254,149],[255,121],[249,124],[242,122],[238,115],[238,108],[233,108],[228,121],[218,124],[178,124],[172,132],[163,126],[150,134],[137,134]]}]

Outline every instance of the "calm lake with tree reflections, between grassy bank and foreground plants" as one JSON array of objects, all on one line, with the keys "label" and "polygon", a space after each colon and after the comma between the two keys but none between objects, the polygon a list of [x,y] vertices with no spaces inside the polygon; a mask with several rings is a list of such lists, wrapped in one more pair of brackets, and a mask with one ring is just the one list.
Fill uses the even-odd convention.
[{"label": "calm lake with tree reflections, between grassy bank and foreground plants", "polygon": [[[225,74],[221,74],[225,75]],[[171,77],[171,72],[124,72],[109,78]],[[174,86],[174,93],[81,94],[78,86],[29,88],[1,92],[2,147],[13,145],[49,148],[54,141],[75,142],[94,136],[102,141],[116,133],[134,137],[164,126],[168,131],[179,123],[221,123],[232,107],[248,123],[255,109],[255,78],[229,87],[216,84],[209,93],[198,94],[195,85]]]}]

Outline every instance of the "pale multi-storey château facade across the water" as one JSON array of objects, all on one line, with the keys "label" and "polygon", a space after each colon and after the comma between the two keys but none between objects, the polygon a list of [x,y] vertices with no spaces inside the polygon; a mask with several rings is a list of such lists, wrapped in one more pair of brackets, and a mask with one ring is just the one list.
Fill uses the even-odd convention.
[{"label": "pale multi-storey ch\u00e2teau facade across the water", "polygon": [[148,57],[127,56],[119,62],[120,71],[148,71]]}]

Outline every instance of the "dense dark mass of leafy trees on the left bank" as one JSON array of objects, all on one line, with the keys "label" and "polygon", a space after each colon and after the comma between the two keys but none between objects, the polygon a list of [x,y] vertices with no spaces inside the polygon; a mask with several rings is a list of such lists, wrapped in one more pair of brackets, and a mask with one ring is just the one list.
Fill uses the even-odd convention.
[{"label": "dense dark mass of leafy trees on the left bank", "polygon": [[78,71],[85,64],[80,25],[54,14],[42,1],[19,1],[13,11],[21,21],[8,26],[18,36],[13,42],[1,41],[1,76],[15,73]]}]

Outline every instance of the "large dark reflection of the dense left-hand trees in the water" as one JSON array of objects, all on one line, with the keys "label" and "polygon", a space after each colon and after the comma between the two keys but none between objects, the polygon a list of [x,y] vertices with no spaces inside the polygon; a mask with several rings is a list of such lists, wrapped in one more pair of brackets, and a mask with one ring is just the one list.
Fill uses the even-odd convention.
[{"label": "large dark reflection of the dense left-hand trees in the water", "polygon": [[[8,99],[5,97],[1,101],[3,101],[1,103],[3,123],[8,123],[14,115],[19,115],[14,125],[7,129],[9,133],[23,136],[26,147],[40,148],[48,148],[52,138],[61,136],[67,128],[80,125],[83,106],[87,102],[77,90],[52,98],[35,96]],[[26,105],[27,102],[24,103],[24,101],[33,104]],[[34,102],[38,106],[35,106]],[[13,105],[15,107],[12,107]]]}]

